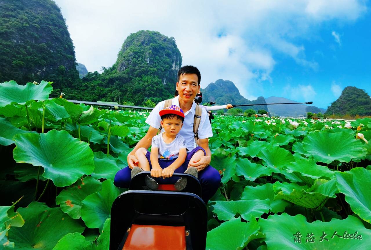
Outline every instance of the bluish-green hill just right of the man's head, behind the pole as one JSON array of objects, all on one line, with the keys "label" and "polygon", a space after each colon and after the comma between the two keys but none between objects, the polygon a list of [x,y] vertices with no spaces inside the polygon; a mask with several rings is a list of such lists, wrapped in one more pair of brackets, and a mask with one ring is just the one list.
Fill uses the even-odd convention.
[{"label": "bluish-green hill just right of the man's head, behind the pole", "polygon": [[[201,72],[202,74],[202,72]],[[215,83],[210,83],[202,91],[203,102],[215,101],[216,105],[224,104],[263,104],[266,103],[264,97],[259,97],[256,100],[250,101],[245,97],[241,96],[240,91],[234,85],[232,81],[227,81],[223,79],[216,80]],[[254,109],[254,110],[268,110],[266,105],[259,106],[247,106],[240,107],[242,110]]]}]

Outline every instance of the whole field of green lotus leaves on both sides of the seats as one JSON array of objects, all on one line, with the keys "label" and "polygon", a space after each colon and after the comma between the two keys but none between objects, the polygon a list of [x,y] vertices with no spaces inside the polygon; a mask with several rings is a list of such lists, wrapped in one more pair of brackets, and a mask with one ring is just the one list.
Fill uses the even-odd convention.
[{"label": "whole field of green lotus leaves on both sides of the seats", "polygon": [[[115,173],[148,112],[50,99],[51,82],[0,84],[4,249],[109,248]],[[220,189],[207,249],[370,249],[371,119],[215,116]]]}]

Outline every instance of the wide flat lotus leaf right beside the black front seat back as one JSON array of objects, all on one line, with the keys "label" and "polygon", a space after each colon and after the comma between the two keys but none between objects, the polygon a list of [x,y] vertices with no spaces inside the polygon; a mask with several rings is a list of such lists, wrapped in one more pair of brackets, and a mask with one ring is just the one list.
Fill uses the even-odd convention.
[{"label": "wide flat lotus leaf right beside the black front seat back", "polygon": [[213,213],[217,214],[218,220],[230,220],[239,214],[244,220],[249,221],[252,216],[259,218],[271,209],[270,200],[236,200],[215,201]]}]

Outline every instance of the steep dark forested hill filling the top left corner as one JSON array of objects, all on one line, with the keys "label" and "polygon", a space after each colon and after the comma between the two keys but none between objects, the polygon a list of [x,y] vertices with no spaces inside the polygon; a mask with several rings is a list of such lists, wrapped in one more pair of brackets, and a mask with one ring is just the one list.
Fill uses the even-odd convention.
[{"label": "steep dark forested hill filling the top left corner", "polygon": [[0,1],[0,82],[47,80],[63,89],[78,77],[72,40],[54,1]]}]

